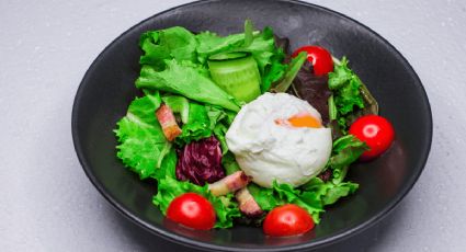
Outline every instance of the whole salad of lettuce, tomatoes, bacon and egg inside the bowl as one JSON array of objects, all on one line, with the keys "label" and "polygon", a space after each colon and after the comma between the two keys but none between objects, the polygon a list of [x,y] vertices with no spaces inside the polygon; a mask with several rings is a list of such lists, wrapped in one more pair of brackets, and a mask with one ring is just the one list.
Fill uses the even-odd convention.
[{"label": "whole salad of lettuce, tomatoes, bacon and egg inside the bowl", "polygon": [[345,180],[351,163],[389,148],[394,129],[349,60],[288,44],[249,20],[228,36],[141,34],[144,94],[114,130],[117,157],[157,181],[152,203],[169,219],[300,234],[357,190]]}]

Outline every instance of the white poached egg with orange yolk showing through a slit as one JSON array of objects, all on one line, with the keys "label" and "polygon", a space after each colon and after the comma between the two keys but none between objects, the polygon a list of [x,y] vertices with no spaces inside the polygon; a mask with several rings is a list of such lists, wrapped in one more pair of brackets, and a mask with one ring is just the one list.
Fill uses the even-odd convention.
[{"label": "white poached egg with orange yolk showing through a slit", "polygon": [[226,134],[228,148],[252,181],[299,186],[319,174],[332,149],[331,129],[308,102],[264,93],[242,106]]}]

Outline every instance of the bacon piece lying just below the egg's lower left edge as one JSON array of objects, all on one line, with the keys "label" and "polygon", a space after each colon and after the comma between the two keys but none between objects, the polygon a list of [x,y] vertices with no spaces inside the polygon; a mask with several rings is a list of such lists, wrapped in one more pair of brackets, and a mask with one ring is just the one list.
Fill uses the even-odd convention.
[{"label": "bacon piece lying just below the egg's lower left edge", "polygon": [[246,175],[243,171],[237,171],[215,183],[209,184],[208,190],[214,196],[221,196],[247,186],[250,181],[251,177]]}]

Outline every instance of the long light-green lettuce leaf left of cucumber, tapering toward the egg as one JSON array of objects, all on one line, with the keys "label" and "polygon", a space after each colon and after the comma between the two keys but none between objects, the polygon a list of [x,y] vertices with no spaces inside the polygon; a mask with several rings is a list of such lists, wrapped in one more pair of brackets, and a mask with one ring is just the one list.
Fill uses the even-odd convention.
[{"label": "long light-green lettuce leaf left of cucumber, tapering toward the egg", "polygon": [[157,71],[147,65],[143,66],[136,80],[139,89],[161,90],[186,96],[191,100],[218,105],[238,112],[235,99],[221,90],[209,78],[206,69],[189,61],[167,60],[167,68]]}]

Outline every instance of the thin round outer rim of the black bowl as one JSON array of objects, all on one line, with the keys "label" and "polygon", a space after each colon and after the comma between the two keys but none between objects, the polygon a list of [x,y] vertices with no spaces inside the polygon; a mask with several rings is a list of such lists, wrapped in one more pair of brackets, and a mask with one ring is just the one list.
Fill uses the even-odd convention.
[{"label": "thin round outer rim of the black bowl", "polygon": [[399,205],[399,203],[405,198],[405,196],[411,191],[411,188],[413,187],[413,185],[416,184],[416,182],[420,177],[420,175],[421,175],[421,173],[422,173],[422,171],[425,167],[425,163],[429,159],[429,154],[430,154],[430,150],[431,150],[431,146],[432,146],[432,135],[433,135],[432,110],[431,110],[431,106],[430,106],[430,103],[429,103],[429,98],[428,98],[428,94],[425,92],[425,89],[424,89],[419,76],[417,75],[417,72],[414,71],[412,66],[401,55],[401,53],[398,51],[398,49],[396,49],[395,46],[393,46],[387,39],[385,39],[383,36],[380,36],[378,33],[376,33],[375,31],[373,31],[368,26],[360,23],[359,21],[356,21],[356,20],[354,20],[354,19],[352,19],[352,18],[350,18],[345,14],[333,11],[333,10],[326,8],[326,7],[317,5],[317,4],[309,3],[309,2],[304,2],[304,1],[300,1],[300,0],[275,0],[275,1],[276,2],[284,2],[284,3],[293,3],[293,4],[296,4],[296,5],[303,5],[303,7],[306,7],[306,8],[314,8],[314,9],[317,9],[319,11],[323,11],[323,12],[330,13],[332,15],[336,15],[340,19],[353,22],[356,25],[360,25],[361,27],[365,28],[367,32],[372,33],[375,37],[377,37],[385,45],[387,45],[395,54],[397,54],[397,56],[400,58],[402,64],[408,68],[408,71],[410,71],[410,73],[414,78],[414,81],[417,83],[419,83],[418,88],[420,88],[420,92],[423,94],[422,98],[423,98],[423,102],[424,102],[424,105],[425,105],[425,108],[427,108],[427,114],[428,114],[428,122],[427,122],[428,123],[427,124],[427,127],[428,127],[427,128],[428,129],[428,139],[427,139],[428,146],[424,149],[423,157],[421,157],[421,160],[420,160],[421,165],[420,165],[420,168],[418,168],[417,173],[408,179],[408,181],[405,183],[405,185],[400,188],[400,192],[397,195],[395,195],[394,199],[388,202],[388,204],[380,211],[378,211],[373,217],[368,218],[367,220],[365,220],[361,224],[357,224],[355,226],[342,229],[342,230],[336,232],[333,236],[330,236],[330,237],[327,237],[327,238],[310,240],[311,242],[303,242],[303,243],[292,244],[292,245],[277,245],[275,248],[227,247],[227,245],[218,245],[218,244],[213,244],[213,243],[208,243],[208,242],[204,242],[204,241],[197,241],[197,240],[194,240],[194,239],[190,239],[187,237],[183,237],[183,236],[178,234],[175,232],[163,230],[161,228],[158,228],[158,227],[150,225],[149,222],[143,220],[138,216],[132,214],[128,209],[125,208],[125,206],[123,206],[123,204],[120,204],[117,201],[112,198],[110,196],[110,192],[107,192],[104,188],[104,186],[99,182],[99,180],[94,176],[94,174],[90,170],[90,165],[87,161],[87,158],[83,154],[82,146],[81,146],[79,137],[78,137],[79,136],[79,134],[78,134],[78,111],[79,111],[79,107],[80,107],[80,103],[82,101],[81,98],[82,98],[83,91],[87,87],[88,80],[90,79],[90,76],[93,72],[93,69],[95,68],[95,66],[101,60],[103,60],[104,55],[106,55],[106,51],[110,49],[110,47],[113,44],[115,44],[118,41],[122,41],[125,37],[126,34],[128,34],[134,28],[136,28],[140,25],[144,25],[144,23],[148,22],[149,20],[151,20],[151,19],[154,19],[158,15],[162,15],[164,13],[174,11],[177,9],[180,9],[180,8],[193,7],[193,5],[197,5],[197,4],[206,4],[206,3],[212,3],[212,2],[220,2],[220,1],[221,0],[193,1],[193,2],[181,4],[181,5],[172,7],[170,9],[164,10],[164,11],[158,12],[158,13],[156,13],[156,14],[147,18],[147,19],[144,19],[143,21],[133,25],[132,27],[126,30],[124,33],[122,33],[120,36],[114,38],[109,45],[105,46],[105,48],[93,60],[91,66],[86,71],[84,77],[82,78],[82,80],[79,84],[79,88],[76,92],[75,101],[73,101],[73,105],[72,105],[72,112],[71,112],[72,141],[73,141],[75,150],[77,152],[79,162],[80,162],[86,175],[88,176],[88,179],[95,186],[95,188],[100,192],[100,194],[118,213],[121,213],[127,219],[132,220],[133,222],[137,224],[139,227],[143,227],[144,229],[148,230],[149,232],[151,232],[151,233],[154,233],[154,234],[156,234],[160,238],[163,238],[163,239],[169,240],[171,242],[174,242],[174,243],[178,243],[178,244],[181,244],[181,245],[185,245],[185,247],[189,247],[189,248],[193,248],[193,249],[203,249],[203,250],[211,250],[211,251],[243,251],[243,252],[247,252],[247,251],[291,251],[291,250],[319,249],[319,248],[322,248],[322,247],[326,247],[326,245],[330,245],[330,244],[333,244],[333,243],[337,243],[337,242],[341,242],[341,241],[343,241],[348,238],[356,236],[356,234],[374,227],[383,218],[388,216]]}]

